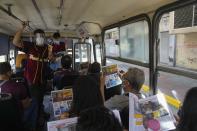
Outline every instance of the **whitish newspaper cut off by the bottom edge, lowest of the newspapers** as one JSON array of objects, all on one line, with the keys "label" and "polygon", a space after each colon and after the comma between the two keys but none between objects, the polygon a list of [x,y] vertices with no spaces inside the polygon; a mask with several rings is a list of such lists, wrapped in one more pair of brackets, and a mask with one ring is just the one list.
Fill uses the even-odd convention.
[{"label": "whitish newspaper cut off by the bottom edge, lowest of the newspapers", "polygon": [[47,122],[47,131],[76,131],[77,117]]}]

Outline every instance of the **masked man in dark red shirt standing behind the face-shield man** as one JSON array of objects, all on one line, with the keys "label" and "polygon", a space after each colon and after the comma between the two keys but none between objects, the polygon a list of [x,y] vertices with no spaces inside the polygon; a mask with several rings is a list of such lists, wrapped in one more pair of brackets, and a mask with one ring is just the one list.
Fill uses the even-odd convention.
[{"label": "masked man in dark red shirt standing behind the face-shield man", "polygon": [[60,41],[60,33],[55,32],[53,34],[53,61],[50,63],[51,69],[56,71],[57,69],[61,68],[61,56],[65,55],[66,51],[66,44],[63,41]]}]

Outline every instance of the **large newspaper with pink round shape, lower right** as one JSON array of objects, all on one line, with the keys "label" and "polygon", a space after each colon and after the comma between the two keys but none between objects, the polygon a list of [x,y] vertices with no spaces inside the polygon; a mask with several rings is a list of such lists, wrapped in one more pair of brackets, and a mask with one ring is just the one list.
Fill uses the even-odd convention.
[{"label": "large newspaper with pink round shape, lower right", "polygon": [[164,95],[157,94],[138,100],[129,94],[129,131],[168,131],[175,129]]}]

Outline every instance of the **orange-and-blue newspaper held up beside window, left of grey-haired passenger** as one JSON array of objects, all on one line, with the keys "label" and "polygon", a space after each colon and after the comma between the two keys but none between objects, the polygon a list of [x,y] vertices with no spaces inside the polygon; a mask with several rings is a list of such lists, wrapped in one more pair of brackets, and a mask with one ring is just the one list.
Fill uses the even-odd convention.
[{"label": "orange-and-blue newspaper held up beside window, left of grey-haired passenger", "polygon": [[102,71],[105,76],[105,86],[107,89],[122,84],[122,80],[118,75],[117,65],[104,66]]}]

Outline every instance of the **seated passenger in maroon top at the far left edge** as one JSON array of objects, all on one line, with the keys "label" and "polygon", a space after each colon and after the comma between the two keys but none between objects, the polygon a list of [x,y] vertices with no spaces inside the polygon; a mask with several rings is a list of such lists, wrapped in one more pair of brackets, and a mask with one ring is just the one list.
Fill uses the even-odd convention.
[{"label": "seated passenger in maroon top at the far left edge", "polygon": [[8,62],[0,63],[0,84],[2,93],[10,93],[16,99],[20,110],[21,118],[24,122],[31,121],[31,127],[35,128],[36,123],[36,105],[32,103],[27,95],[27,90],[22,83],[16,83],[11,78],[11,66]]}]

